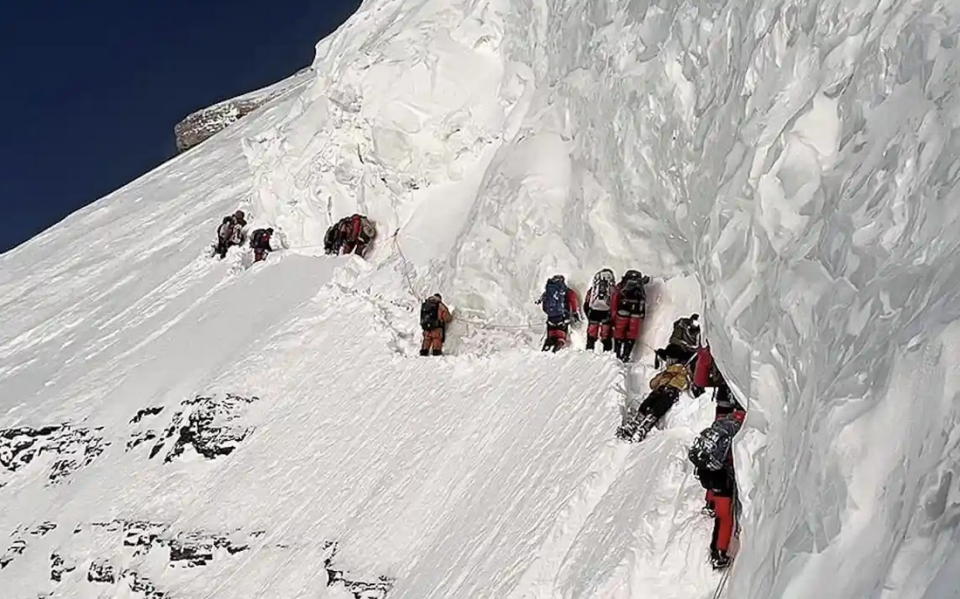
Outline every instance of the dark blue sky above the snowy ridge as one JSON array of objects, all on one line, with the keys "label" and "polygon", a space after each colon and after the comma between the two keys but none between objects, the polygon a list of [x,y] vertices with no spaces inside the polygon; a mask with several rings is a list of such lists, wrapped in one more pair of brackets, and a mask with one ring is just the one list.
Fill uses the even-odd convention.
[{"label": "dark blue sky above the snowy ridge", "polygon": [[310,64],[359,4],[0,1],[0,252],[172,157],[190,112]]}]

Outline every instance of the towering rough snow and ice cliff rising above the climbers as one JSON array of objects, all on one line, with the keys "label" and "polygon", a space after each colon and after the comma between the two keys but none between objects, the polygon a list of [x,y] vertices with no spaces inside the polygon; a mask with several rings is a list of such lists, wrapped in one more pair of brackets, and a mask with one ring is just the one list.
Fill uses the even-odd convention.
[{"label": "towering rough snow and ice cliff rising above the climbers", "polygon": [[554,271],[695,272],[754,410],[731,591],[919,597],[956,550],[958,24],[937,1],[369,2],[248,155],[262,202],[370,213],[415,291],[494,322],[533,320]]}]

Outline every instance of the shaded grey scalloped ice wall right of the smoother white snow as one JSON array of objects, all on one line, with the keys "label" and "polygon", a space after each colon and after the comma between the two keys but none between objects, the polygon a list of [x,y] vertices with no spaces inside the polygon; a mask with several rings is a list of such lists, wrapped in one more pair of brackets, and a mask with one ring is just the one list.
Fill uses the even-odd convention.
[{"label": "shaded grey scalloped ice wall right of the smoother white snow", "polygon": [[696,270],[749,395],[731,595],[921,596],[960,498],[960,9],[519,6],[508,56],[533,102],[618,225],[655,217]]}]

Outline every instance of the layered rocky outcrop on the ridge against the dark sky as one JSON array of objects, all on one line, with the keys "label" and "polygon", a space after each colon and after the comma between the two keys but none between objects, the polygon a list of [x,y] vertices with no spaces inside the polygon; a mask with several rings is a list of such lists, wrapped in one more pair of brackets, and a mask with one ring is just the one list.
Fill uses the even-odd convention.
[{"label": "layered rocky outcrop on the ridge against the dark sky", "polygon": [[292,77],[269,87],[231,98],[190,114],[173,128],[177,138],[177,151],[189,150],[223,131],[270,100],[305,82],[311,72],[310,68],[302,69]]}]

